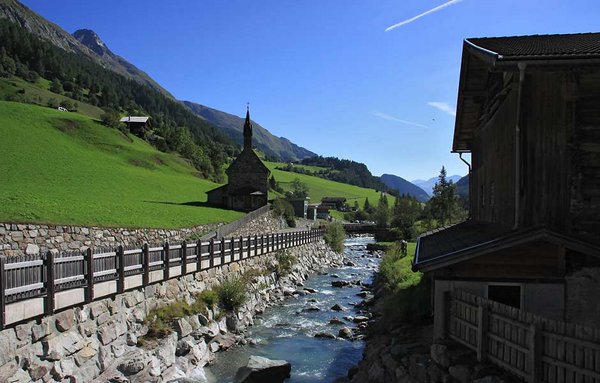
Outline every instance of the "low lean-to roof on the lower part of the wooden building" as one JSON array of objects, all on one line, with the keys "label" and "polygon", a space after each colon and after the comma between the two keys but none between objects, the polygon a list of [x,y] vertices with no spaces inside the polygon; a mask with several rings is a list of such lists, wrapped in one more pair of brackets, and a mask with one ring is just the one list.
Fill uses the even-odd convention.
[{"label": "low lean-to roof on the lower part of the wooden building", "polygon": [[514,231],[488,222],[465,221],[419,237],[413,270],[432,271],[536,241],[600,257],[600,247],[543,227]]}]

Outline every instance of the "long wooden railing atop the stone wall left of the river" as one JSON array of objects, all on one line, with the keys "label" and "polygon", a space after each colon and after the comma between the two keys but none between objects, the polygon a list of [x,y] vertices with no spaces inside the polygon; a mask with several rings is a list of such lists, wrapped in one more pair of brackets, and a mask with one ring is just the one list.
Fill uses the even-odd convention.
[{"label": "long wooden railing atop the stone wall left of the river", "polygon": [[0,257],[0,329],[106,296],[314,242],[322,230]]}]

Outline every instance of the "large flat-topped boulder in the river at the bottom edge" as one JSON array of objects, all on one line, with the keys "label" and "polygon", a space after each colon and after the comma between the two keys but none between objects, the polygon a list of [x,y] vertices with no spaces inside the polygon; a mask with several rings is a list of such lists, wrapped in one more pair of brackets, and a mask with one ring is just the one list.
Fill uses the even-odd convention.
[{"label": "large flat-topped boulder in the river at the bottom edge", "polygon": [[236,383],[281,383],[290,377],[292,365],[285,360],[272,360],[251,355],[248,365],[240,367]]}]

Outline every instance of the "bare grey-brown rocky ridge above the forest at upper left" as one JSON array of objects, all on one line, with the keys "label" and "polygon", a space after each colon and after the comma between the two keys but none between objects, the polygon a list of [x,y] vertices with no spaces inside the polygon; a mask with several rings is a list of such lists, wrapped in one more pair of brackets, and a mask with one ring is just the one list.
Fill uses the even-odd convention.
[{"label": "bare grey-brown rocky ridge above the forest at upper left", "polygon": [[[0,0],[0,18],[8,19],[13,23],[20,25],[27,31],[51,42],[67,52],[73,52],[88,57],[104,68],[110,69],[140,84],[148,85],[164,95],[173,98],[167,90],[161,87],[156,81],[148,76],[148,74],[138,69],[135,65],[127,62],[127,60],[122,57],[112,53],[101,41],[101,45],[106,48],[105,51],[94,51],[81,43],[78,38],[72,36],[58,25],[46,20],[16,0]],[[83,37],[79,36],[79,38],[83,40]]]}]

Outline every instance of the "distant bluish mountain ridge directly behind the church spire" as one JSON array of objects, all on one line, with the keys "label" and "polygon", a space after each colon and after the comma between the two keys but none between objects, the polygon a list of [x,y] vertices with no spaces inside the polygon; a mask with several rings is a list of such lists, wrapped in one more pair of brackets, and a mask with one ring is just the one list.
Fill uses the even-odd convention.
[{"label": "distant bluish mountain ridge directly behind the church spire", "polygon": [[[184,104],[198,116],[221,128],[234,142],[242,144],[243,118],[190,101],[184,101]],[[252,121],[252,126],[254,127],[254,145],[265,153],[268,158],[277,158],[280,161],[289,162],[316,156],[315,153],[294,144],[287,138],[274,136],[254,121]]]}]

